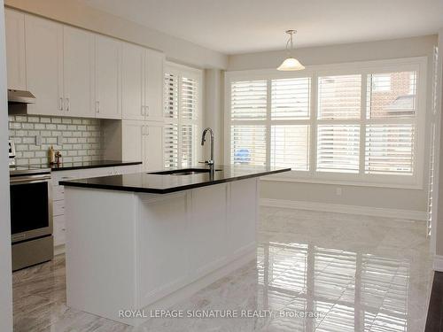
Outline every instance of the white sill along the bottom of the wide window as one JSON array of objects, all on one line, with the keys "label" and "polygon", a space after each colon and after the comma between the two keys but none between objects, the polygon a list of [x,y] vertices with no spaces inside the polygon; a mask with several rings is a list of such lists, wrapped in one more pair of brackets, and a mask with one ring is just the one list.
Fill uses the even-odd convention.
[{"label": "white sill along the bottom of the wide window", "polygon": [[276,182],[299,182],[299,183],[313,183],[313,184],[331,184],[339,186],[355,186],[355,187],[377,187],[377,188],[389,188],[389,189],[417,189],[423,190],[422,184],[399,184],[399,183],[377,183],[377,182],[364,182],[364,181],[349,181],[349,180],[326,180],[326,179],[314,179],[303,178],[295,175],[268,175],[260,178],[261,181],[276,181]]}]

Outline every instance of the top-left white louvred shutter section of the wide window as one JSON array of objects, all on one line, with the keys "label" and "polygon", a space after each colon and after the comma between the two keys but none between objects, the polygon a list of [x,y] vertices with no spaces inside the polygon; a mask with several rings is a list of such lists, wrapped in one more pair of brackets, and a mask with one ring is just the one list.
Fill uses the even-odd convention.
[{"label": "top-left white louvred shutter section of the wide window", "polygon": [[267,107],[266,81],[235,81],[230,92],[233,120],[265,120]]}]

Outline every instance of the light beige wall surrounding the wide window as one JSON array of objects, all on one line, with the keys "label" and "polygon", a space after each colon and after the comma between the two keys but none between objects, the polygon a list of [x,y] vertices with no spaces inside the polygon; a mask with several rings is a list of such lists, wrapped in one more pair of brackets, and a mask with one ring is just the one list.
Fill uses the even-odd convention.
[{"label": "light beige wall surrounding the wide window", "polygon": [[[436,35],[404,38],[382,42],[358,42],[298,49],[295,57],[304,65],[326,65],[356,61],[381,60],[389,58],[428,57],[427,114],[431,112],[431,79],[433,48],[437,44]],[[285,58],[285,51],[270,51],[229,56],[229,71],[276,68]],[[430,117],[427,115],[425,133],[429,133]],[[386,209],[425,212],[427,209],[428,160],[430,137],[426,135],[424,151],[423,189],[393,189],[362,187],[354,185],[261,181],[262,198],[284,199],[319,204],[358,205]],[[342,189],[341,196],[336,194]],[[423,214],[423,213],[422,213]],[[443,238],[443,237],[442,237]]]}]

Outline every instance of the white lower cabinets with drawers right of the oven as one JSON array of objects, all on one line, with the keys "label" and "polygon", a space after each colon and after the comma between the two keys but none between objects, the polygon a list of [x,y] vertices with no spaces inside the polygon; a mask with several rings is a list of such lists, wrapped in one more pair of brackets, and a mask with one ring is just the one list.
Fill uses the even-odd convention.
[{"label": "white lower cabinets with drawers right of the oven", "polygon": [[52,173],[52,227],[56,254],[64,252],[66,243],[65,220],[65,187],[59,181],[82,179],[96,176],[120,175],[141,172],[141,165],[127,165],[115,167],[97,167],[73,171],[57,171]]}]

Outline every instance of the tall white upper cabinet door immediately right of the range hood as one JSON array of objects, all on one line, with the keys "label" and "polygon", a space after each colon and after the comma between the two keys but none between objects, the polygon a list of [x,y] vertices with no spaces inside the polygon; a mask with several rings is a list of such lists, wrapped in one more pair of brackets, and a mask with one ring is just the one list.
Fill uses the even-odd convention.
[{"label": "tall white upper cabinet door immediately right of the range hood", "polygon": [[27,89],[35,96],[30,114],[62,115],[63,26],[25,15]]}]

